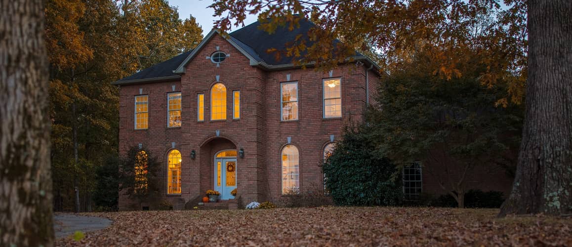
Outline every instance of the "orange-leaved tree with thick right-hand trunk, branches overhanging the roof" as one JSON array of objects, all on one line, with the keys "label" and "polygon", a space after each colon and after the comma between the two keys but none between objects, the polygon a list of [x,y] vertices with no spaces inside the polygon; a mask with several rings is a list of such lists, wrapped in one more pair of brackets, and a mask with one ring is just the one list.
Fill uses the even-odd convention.
[{"label": "orange-leaved tree with thick right-hand trunk, branches overhanging the roof", "polygon": [[[297,39],[288,47],[305,53],[287,54],[295,62],[316,62],[325,69],[345,62],[353,49],[371,50],[372,45],[379,51],[383,70],[391,71],[420,43],[430,43],[439,48],[431,56],[438,69],[431,73],[462,78],[458,65],[467,61],[460,54],[478,47],[482,55],[470,61],[485,68],[478,82],[487,87],[506,85],[495,106],[523,103],[525,89],[527,95],[517,174],[501,215],[570,214],[572,101],[567,98],[572,98],[572,63],[566,59],[572,48],[565,44],[571,40],[572,20],[567,17],[572,3],[502,2],[506,7],[498,0],[217,0],[210,7],[221,17],[217,25],[222,30],[243,25],[247,13],[259,14],[267,31],[311,19],[317,27],[309,31],[309,42]],[[483,22],[480,18],[490,12],[495,18]],[[481,33],[478,38],[475,32]],[[336,45],[335,38],[343,43]],[[529,62],[534,64],[529,67]]]}]

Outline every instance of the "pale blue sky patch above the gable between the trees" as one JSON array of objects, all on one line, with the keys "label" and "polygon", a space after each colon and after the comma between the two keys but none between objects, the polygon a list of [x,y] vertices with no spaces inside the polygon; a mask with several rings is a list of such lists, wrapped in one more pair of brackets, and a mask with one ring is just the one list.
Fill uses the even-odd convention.
[{"label": "pale blue sky patch above the gable between the trees", "polygon": [[[198,25],[202,27],[203,37],[210,32],[215,19],[219,19],[218,17],[213,17],[215,11],[208,7],[212,3],[212,0],[169,0],[170,6],[178,8],[179,18],[182,20],[188,19],[189,15],[193,15],[194,18],[197,18]],[[244,25],[255,22],[256,19],[256,15],[247,15],[247,19],[244,20]],[[233,25],[231,30],[235,31],[237,29],[240,29],[240,27]]]}]

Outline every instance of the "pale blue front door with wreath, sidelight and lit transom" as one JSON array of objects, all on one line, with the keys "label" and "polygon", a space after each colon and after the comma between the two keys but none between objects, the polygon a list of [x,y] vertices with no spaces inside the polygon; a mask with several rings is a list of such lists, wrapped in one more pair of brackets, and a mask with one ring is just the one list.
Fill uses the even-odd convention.
[{"label": "pale blue front door with wreath, sidelight and lit transom", "polygon": [[236,189],[236,158],[215,158],[215,190],[221,200],[235,198],[231,195]]}]

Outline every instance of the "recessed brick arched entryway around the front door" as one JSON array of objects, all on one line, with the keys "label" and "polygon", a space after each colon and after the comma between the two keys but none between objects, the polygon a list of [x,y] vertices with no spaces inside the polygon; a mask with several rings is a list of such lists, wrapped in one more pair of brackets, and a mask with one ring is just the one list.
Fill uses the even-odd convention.
[{"label": "recessed brick arched entryway around the front door", "polygon": [[239,182],[237,150],[234,142],[225,137],[205,141],[200,147],[201,190],[214,189],[221,193],[219,200],[234,198],[231,191]]}]

